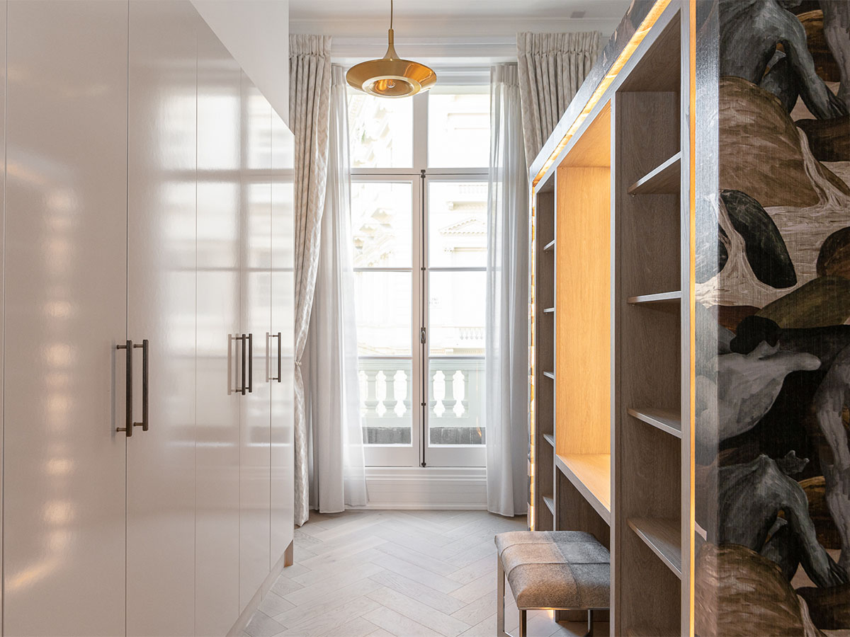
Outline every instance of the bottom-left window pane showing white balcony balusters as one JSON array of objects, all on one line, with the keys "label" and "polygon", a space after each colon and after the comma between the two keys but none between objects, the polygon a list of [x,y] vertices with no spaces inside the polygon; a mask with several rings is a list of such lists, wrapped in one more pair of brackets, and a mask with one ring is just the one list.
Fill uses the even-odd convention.
[{"label": "bottom-left window pane showing white balcony balusters", "polygon": [[413,426],[411,361],[360,358],[358,367],[363,442],[410,447]]}]

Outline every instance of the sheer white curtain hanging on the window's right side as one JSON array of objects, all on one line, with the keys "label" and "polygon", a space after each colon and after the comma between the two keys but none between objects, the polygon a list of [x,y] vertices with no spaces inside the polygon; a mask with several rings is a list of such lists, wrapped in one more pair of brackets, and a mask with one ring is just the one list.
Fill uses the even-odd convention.
[{"label": "sheer white curtain hanging on the window's right side", "polygon": [[484,414],[487,509],[528,510],[529,214],[517,65],[490,70]]}]

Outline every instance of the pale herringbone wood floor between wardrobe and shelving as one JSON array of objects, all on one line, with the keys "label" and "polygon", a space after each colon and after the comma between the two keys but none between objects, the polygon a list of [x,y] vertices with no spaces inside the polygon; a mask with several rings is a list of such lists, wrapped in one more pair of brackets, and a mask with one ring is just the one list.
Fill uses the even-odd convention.
[{"label": "pale herringbone wood floor between wardrobe and shelving", "polygon": [[[524,530],[485,511],[314,513],[295,532],[286,568],[246,628],[249,637],[492,637],[496,545]],[[506,627],[519,616],[507,592]],[[529,613],[530,637],[584,634],[583,623]],[[605,634],[607,626],[597,626]]]}]

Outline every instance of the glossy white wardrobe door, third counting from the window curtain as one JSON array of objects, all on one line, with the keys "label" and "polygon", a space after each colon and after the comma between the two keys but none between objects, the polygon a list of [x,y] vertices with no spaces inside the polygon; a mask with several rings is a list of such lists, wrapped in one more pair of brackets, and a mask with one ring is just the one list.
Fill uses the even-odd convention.
[{"label": "glossy white wardrobe door, third counting from the window curtain", "polygon": [[241,70],[198,26],[195,634],[239,617]]}]

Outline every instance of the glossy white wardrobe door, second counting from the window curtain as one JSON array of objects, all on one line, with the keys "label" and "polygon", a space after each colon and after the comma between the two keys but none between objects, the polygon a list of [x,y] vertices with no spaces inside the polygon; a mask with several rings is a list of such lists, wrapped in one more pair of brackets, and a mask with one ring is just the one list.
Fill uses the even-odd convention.
[{"label": "glossy white wardrobe door, second counting from the window curtain", "polygon": [[251,336],[241,400],[239,610],[269,574],[271,105],[242,73],[241,331]]}]

